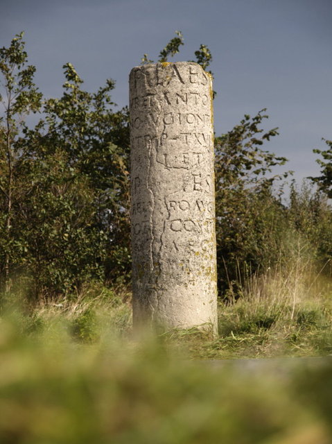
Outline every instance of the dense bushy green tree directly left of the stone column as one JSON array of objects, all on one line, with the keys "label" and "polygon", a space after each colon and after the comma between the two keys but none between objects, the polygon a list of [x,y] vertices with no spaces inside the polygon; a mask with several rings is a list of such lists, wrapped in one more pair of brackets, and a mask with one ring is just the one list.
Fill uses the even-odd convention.
[{"label": "dense bushy green tree directly left of the stone column", "polygon": [[112,80],[89,93],[73,65],[63,68],[62,97],[44,102],[43,119],[21,140],[24,176],[35,184],[23,231],[38,294],[129,272],[121,259],[130,242],[128,110],[113,112]]}]

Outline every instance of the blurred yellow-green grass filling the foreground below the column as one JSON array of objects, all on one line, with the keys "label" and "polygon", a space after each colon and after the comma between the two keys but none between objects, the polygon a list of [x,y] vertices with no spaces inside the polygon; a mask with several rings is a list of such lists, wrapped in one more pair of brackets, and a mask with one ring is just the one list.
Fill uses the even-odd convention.
[{"label": "blurred yellow-green grass filling the foreground below the column", "polygon": [[1,443],[332,442],[329,359],[287,377],[218,368],[192,359],[216,341],[194,330],[135,339],[129,307],[99,303],[3,313]]}]

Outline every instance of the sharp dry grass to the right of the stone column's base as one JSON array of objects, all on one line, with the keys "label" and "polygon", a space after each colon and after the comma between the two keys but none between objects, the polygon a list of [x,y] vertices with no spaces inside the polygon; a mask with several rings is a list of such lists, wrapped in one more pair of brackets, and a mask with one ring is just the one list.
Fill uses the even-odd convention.
[{"label": "sharp dry grass to the right of the stone column's base", "polygon": [[195,330],[179,332],[179,339],[200,359],[332,355],[331,296],[331,278],[298,259],[286,271],[250,276],[241,298],[220,302],[218,339]]}]

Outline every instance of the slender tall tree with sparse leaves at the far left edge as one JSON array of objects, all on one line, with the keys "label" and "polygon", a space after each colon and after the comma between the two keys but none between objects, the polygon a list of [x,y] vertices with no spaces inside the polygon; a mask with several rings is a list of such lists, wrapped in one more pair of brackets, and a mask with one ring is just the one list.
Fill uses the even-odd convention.
[{"label": "slender tall tree with sparse leaves at the far left edge", "polygon": [[4,115],[0,117],[0,257],[2,284],[9,289],[11,265],[19,264],[22,244],[15,237],[18,220],[14,217],[15,206],[29,192],[21,187],[17,170],[24,152],[19,137],[25,128],[24,119],[30,112],[40,110],[42,94],[33,83],[35,67],[27,65],[24,51],[24,33],[17,34],[8,48],[0,49],[0,85],[3,93],[0,101]]}]

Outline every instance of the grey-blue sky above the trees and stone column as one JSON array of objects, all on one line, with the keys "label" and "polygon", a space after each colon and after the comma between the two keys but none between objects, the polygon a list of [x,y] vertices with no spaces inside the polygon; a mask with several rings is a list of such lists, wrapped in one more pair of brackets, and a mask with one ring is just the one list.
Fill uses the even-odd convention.
[{"label": "grey-blue sky above the trees and stone column", "polygon": [[[143,53],[159,51],[182,31],[172,60],[211,50],[216,135],[244,114],[267,108],[264,128],[279,127],[265,149],[285,156],[298,183],[317,176],[332,139],[332,0],[0,0],[0,46],[25,31],[35,83],[62,94],[71,62],[90,92],[116,80],[113,99],[128,104],[128,76]],[[280,170],[281,171],[281,170]]]}]

